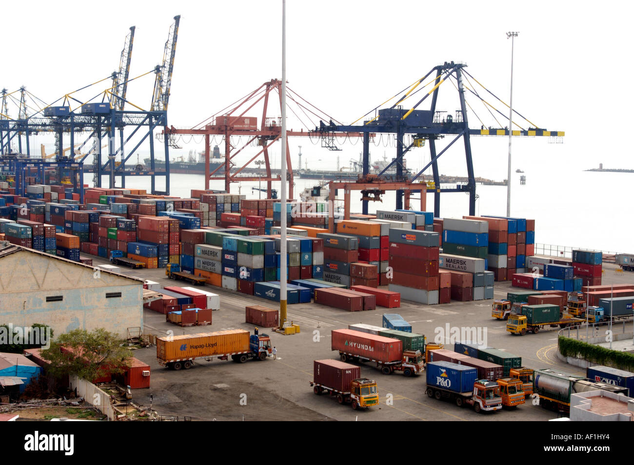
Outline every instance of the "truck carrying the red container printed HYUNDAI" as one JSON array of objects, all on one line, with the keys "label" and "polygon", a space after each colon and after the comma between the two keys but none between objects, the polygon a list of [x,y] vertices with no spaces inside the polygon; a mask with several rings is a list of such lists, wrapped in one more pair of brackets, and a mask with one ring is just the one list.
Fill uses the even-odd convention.
[{"label": "truck carrying the red container printed HYUNDAI", "polygon": [[418,374],[424,369],[420,350],[403,351],[403,342],[353,329],[333,329],[332,350],[338,350],[342,362],[375,362],[383,374],[402,371],[405,376]]}]

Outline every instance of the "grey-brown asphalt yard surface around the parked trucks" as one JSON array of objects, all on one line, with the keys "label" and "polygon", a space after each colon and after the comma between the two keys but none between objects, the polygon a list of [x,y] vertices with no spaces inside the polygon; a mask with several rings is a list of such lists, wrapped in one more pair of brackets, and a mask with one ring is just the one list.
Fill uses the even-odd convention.
[{"label": "grey-brown asphalt yard surface around the parked trucks", "polygon": [[[95,258],[94,264],[106,263]],[[620,274],[614,265],[605,265],[604,283],[634,281],[634,274]],[[164,269],[131,270],[122,268],[122,274],[158,281],[162,285],[179,285],[165,276]],[[182,284],[189,286],[190,284]],[[505,298],[512,288],[510,283],[495,283],[495,298]],[[517,289],[517,288],[514,288]],[[219,331],[221,329],[247,329],[245,305],[264,305],[276,308],[276,303],[240,293],[205,286],[205,290],[221,296],[221,310],[213,314],[207,327],[181,328],[165,321],[165,316],[144,310],[145,333],[163,336]],[[410,322],[413,332],[425,334],[428,341],[443,338],[445,348],[453,349],[453,340],[446,338],[447,328],[474,328],[486,337],[491,347],[520,355],[522,364],[531,368],[559,367],[568,373],[584,374],[582,369],[557,359],[557,331],[552,328],[538,334],[513,336],[507,333],[505,322],[491,318],[491,300],[451,302],[443,305],[420,305],[403,302],[400,309],[365,312],[346,312],[314,303],[288,306],[288,319],[301,326],[301,333],[290,336],[261,328],[260,333],[271,336],[278,359],[250,360],[245,364],[214,360],[197,362],[188,371],[171,371],[159,366],[155,347],[135,351],[138,359],[152,367],[152,387],[134,390],[136,402],[149,405],[153,394],[153,409],[160,414],[191,416],[197,420],[343,420],[343,421],[545,421],[557,417],[538,405],[527,404],[515,410],[502,410],[476,414],[472,409],[425,395],[424,374],[406,378],[402,373],[381,374],[371,364],[361,367],[361,376],[377,381],[380,405],[368,411],[353,411],[349,405],[339,405],[334,398],[314,395],[309,382],[313,379],[313,360],[338,359],[331,350],[330,331],[347,328],[348,324],[363,322],[382,326],[384,312],[399,313]]]}]

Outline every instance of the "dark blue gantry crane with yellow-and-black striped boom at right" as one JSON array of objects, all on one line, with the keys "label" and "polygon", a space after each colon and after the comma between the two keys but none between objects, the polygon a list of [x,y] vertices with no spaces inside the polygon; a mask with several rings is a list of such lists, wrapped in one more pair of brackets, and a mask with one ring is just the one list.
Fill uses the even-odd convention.
[{"label": "dark blue gantry crane with yellow-and-black striped boom at right", "polygon": [[[432,175],[434,179],[434,183],[430,186],[428,185],[428,191],[434,192],[434,215],[437,217],[440,216],[440,198],[441,193],[444,192],[463,192],[469,194],[469,214],[475,215],[475,175],[474,175],[474,166],[472,160],[472,150],[471,150],[471,136],[508,136],[509,131],[512,131],[513,136],[556,136],[562,137],[564,136],[564,132],[562,131],[547,131],[546,129],[541,129],[538,127],[529,127],[528,129],[523,129],[517,124],[517,122],[508,122],[507,127],[504,128],[493,128],[493,127],[484,127],[484,123],[482,123],[480,129],[471,129],[469,127],[469,121],[467,119],[467,101],[465,100],[465,93],[469,91],[474,94],[478,99],[484,103],[486,109],[493,115],[493,118],[498,122],[495,117],[496,113],[499,113],[501,117],[505,117],[501,111],[496,110],[493,105],[489,104],[479,92],[475,89],[475,86],[466,86],[464,83],[465,79],[472,77],[465,67],[467,65],[463,63],[454,63],[453,61],[445,62],[443,65],[436,66],[432,68],[428,73],[424,75],[421,79],[418,79],[416,82],[411,84],[411,86],[406,87],[403,91],[398,92],[391,99],[392,101],[396,98],[396,103],[387,108],[373,108],[373,110],[369,111],[363,117],[359,118],[359,120],[368,117],[368,115],[373,117],[364,120],[363,124],[356,125],[359,120],[355,121],[351,125],[337,125],[333,124],[332,121],[325,123],[320,121],[320,126],[316,128],[316,131],[320,133],[322,146],[329,148],[330,150],[338,150],[338,148],[334,145],[335,138],[333,134],[335,132],[362,132],[363,133],[363,156],[362,156],[362,165],[363,165],[363,177],[367,177],[370,172],[370,134],[396,134],[396,157],[392,160],[387,167],[385,167],[379,174],[378,177],[385,178],[385,173],[389,170],[392,165],[396,165],[396,175],[392,176],[392,181],[405,181],[406,173],[403,169],[403,156],[408,153],[412,148],[421,147],[424,145],[425,141],[429,143],[430,150],[430,162],[423,167],[416,174],[412,174],[409,177],[410,181],[417,181],[418,178],[422,174],[424,174],[425,170],[432,168]],[[426,79],[430,77],[434,72],[436,72],[435,76],[429,80],[426,84],[419,87],[421,84],[425,82]],[[436,104],[438,99],[439,89],[443,82],[446,82],[450,79],[456,81],[456,89],[458,91],[458,98],[460,101],[460,109],[456,110],[455,117],[451,114],[446,114],[444,111],[437,111]],[[479,84],[477,80],[475,80]],[[481,84],[480,84],[481,85]],[[420,96],[419,92],[423,91],[425,87],[432,86],[429,91]],[[481,85],[482,86],[482,85]],[[492,92],[490,92],[486,87],[482,86],[486,92],[489,92],[493,97],[498,99],[501,103],[503,103],[499,98],[495,96]],[[403,93],[404,92],[404,93]],[[401,95],[402,94],[402,95]],[[411,105],[409,110],[403,108],[403,102],[406,99],[409,99],[415,94],[419,94],[420,97],[418,101]],[[400,97],[399,97],[400,96]],[[422,110],[419,107],[422,106],[422,103],[427,99],[430,99],[429,110]],[[387,103],[387,102],[386,102]],[[506,105],[505,103],[503,103]],[[382,104],[382,105],[385,105]],[[380,105],[380,106],[382,106]],[[469,106],[470,110],[474,111],[471,106]],[[474,113],[475,114],[475,113]],[[498,117],[500,117],[498,115]],[[519,115],[522,117],[520,113],[514,110],[514,115]],[[477,116],[477,115],[476,115]],[[508,117],[506,117],[508,120]],[[529,124],[531,122],[524,118]],[[499,122],[498,122],[499,124]],[[519,127],[519,130],[512,129],[512,125],[515,124]],[[405,144],[405,136],[409,135],[411,142]],[[448,143],[441,151],[437,151],[436,143],[439,139],[445,136],[454,136],[451,139],[450,143]],[[438,158],[443,155],[456,141],[460,138],[463,139],[464,150],[465,150],[465,161],[467,165],[467,184],[461,184],[451,188],[441,188],[440,179],[439,179],[439,171],[438,171]],[[429,189],[432,187],[432,189]],[[403,208],[403,191],[396,192],[396,208]],[[368,201],[363,201],[363,213],[368,213]]]}]

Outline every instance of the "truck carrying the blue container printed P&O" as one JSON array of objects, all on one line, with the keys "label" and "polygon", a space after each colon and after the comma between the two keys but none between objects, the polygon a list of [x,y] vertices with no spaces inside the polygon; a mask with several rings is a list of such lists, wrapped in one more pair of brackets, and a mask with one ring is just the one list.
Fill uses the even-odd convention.
[{"label": "truck carrying the blue container printed P&O", "polygon": [[498,383],[477,379],[477,369],[451,362],[427,364],[425,392],[436,400],[445,398],[455,402],[458,407],[473,405],[478,413],[502,408]]}]

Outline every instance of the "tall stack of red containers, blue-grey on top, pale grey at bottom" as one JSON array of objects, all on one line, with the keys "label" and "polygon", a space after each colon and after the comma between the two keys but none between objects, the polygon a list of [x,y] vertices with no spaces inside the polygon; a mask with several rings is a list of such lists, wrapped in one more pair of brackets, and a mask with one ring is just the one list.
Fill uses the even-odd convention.
[{"label": "tall stack of red containers, blue-grey on top, pale grey at bottom", "polygon": [[404,300],[439,303],[438,233],[393,228],[389,239],[393,269],[389,290]]}]

